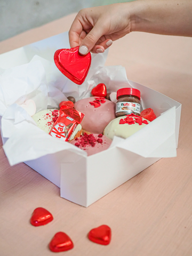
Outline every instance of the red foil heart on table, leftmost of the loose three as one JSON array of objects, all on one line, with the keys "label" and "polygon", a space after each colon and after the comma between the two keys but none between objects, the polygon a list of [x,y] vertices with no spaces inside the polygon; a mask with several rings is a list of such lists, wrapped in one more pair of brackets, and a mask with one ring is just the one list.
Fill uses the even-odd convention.
[{"label": "red foil heart on table, leftmost of the loose three", "polygon": [[30,219],[30,223],[35,226],[43,226],[53,220],[53,215],[42,207],[38,207],[34,210]]}]

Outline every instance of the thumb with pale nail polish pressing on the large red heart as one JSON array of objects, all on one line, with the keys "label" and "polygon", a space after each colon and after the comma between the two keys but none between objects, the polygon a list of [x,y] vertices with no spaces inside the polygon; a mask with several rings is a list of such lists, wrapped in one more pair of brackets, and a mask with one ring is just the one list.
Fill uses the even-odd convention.
[{"label": "thumb with pale nail polish pressing on the large red heart", "polygon": [[90,52],[102,35],[102,26],[96,23],[90,33],[86,35],[81,45],[79,46],[79,53],[81,53],[82,55],[86,55],[88,52]]}]

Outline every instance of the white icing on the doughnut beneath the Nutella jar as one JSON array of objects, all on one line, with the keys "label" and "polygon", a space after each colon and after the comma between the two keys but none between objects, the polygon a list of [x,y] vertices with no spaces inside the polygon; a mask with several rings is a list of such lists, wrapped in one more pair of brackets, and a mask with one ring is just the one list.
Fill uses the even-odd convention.
[{"label": "white icing on the doughnut beneath the Nutella jar", "polygon": [[[113,119],[105,128],[103,134],[106,135],[109,139],[113,140],[114,136],[118,136],[121,138],[128,138],[135,132],[138,132],[143,127],[145,127],[147,124],[141,124],[138,123],[134,124],[119,124],[120,119],[124,119],[126,116],[119,116],[115,119]],[[134,117],[133,117],[134,119]],[[142,120],[146,120],[145,118],[142,118]],[[148,123],[150,121],[147,120]]]}]

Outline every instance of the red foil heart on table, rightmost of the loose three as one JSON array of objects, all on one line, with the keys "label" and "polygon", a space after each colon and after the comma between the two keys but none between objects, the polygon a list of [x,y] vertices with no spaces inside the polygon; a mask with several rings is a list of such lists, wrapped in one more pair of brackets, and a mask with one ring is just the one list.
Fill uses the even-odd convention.
[{"label": "red foil heart on table, rightmost of the loose three", "polygon": [[111,229],[107,225],[91,229],[89,239],[97,244],[108,245],[111,241]]}]

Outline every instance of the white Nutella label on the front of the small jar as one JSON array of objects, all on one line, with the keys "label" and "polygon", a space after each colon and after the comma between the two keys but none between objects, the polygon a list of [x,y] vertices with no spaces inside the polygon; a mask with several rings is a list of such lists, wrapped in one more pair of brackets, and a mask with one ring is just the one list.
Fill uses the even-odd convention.
[{"label": "white Nutella label on the front of the small jar", "polygon": [[126,112],[126,114],[137,113],[140,114],[140,104],[135,102],[117,102],[116,113]]}]

